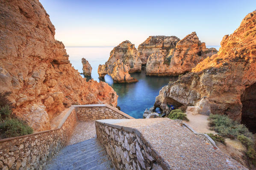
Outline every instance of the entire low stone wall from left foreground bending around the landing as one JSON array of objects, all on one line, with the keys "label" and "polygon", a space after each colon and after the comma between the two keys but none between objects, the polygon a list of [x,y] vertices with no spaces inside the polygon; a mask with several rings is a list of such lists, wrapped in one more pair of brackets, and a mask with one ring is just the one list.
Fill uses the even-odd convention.
[{"label": "entire low stone wall from left foreground bending around the landing", "polygon": [[110,105],[72,105],[56,129],[0,140],[0,169],[43,169],[69,142],[77,118],[134,119]]}]

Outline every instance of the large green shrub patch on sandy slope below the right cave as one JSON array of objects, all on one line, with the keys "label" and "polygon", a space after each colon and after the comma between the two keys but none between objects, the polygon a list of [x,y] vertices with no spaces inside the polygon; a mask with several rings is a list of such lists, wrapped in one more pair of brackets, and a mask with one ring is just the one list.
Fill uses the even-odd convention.
[{"label": "large green shrub patch on sandy slope below the right cave", "polygon": [[252,137],[252,133],[242,124],[231,120],[226,115],[210,114],[209,126],[211,130],[215,130],[219,135],[229,138],[236,138],[238,135],[244,135],[248,138]]}]

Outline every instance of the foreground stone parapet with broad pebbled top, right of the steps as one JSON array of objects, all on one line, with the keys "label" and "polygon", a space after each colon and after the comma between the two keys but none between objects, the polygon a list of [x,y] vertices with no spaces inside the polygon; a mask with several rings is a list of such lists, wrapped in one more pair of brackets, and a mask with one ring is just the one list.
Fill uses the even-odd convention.
[{"label": "foreground stone parapet with broad pebbled top, right of the steps", "polygon": [[247,170],[179,121],[96,121],[97,139],[117,170]]}]

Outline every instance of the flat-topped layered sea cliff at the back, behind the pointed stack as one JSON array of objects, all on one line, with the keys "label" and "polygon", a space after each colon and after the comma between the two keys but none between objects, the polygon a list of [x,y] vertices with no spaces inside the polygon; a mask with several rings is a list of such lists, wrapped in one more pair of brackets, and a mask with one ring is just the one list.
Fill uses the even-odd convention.
[{"label": "flat-topped layered sea cliff at the back, behind the pointed stack", "polygon": [[175,36],[150,36],[138,46],[138,56],[142,64],[147,64],[148,57],[153,53],[169,53],[172,48],[175,48],[178,37]]}]

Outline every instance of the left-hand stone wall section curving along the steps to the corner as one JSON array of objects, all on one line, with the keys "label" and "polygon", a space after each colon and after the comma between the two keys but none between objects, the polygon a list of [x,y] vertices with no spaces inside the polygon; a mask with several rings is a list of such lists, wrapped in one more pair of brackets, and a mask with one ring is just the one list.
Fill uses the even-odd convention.
[{"label": "left-hand stone wall section curving along the steps to the corner", "polygon": [[75,110],[71,108],[58,129],[0,140],[0,169],[43,169],[46,162],[67,144],[76,119]]}]

